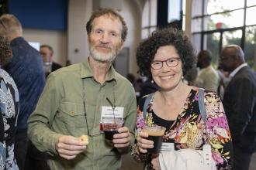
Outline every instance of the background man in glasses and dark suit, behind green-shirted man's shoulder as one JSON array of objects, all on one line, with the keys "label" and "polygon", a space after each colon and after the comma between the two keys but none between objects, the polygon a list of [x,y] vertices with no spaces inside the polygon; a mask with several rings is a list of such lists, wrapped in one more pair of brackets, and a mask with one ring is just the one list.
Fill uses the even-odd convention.
[{"label": "background man in glasses and dark suit, behind green-shirted man's shoulder", "polygon": [[43,67],[46,77],[50,72],[58,70],[62,67],[60,64],[53,62],[54,49],[51,46],[40,46],[40,54],[43,56]]}]

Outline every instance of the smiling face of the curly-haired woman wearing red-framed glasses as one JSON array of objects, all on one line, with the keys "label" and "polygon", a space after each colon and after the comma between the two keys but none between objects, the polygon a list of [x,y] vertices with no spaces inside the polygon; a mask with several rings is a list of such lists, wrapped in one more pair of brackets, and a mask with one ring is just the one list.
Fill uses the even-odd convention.
[{"label": "smiling face of the curly-haired woman wearing red-framed glasses", "polygon": [[151,64],[151,73],[161,90],[172,90],[182,82],[182,60],[174,46],[161,46],[157,49]]}]

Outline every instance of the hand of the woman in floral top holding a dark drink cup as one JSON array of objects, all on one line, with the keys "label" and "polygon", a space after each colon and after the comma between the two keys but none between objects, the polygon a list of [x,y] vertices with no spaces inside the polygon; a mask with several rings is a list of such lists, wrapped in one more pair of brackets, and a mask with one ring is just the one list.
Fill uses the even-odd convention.
[{"label": "hand of the woman in floral top holding a dark drink cup", "polygon": [[154,141],[147,140],[148,134],[140,132],[137,137],[137,146],[140,153],[147,153],[147,148],[154,148]]}]

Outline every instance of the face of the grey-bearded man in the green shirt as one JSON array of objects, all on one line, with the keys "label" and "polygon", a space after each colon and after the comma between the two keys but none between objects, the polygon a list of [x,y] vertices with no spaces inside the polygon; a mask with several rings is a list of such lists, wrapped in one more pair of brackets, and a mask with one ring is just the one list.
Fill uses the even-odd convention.
[{"label": "face of the grey-bearded man in the green shirt", "polygon": [[111,15],[102,15],[92,22],[88,35],[90,55],[96,61],[112,63],[123,48],[122,23]]}]

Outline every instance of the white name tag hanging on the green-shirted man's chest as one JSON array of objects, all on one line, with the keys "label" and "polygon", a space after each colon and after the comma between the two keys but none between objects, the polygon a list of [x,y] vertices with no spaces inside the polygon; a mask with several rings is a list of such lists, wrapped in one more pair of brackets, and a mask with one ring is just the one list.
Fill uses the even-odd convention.
[{"label": "white name tag hanging on the green-shirted man's chest", "polygon": [[115,110],[113,110],[112,107],[105,107],[102,106],[102,118],[119,118],[123,121],[123,107],[115,107]]}]

